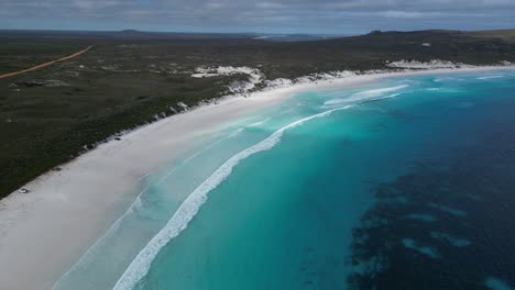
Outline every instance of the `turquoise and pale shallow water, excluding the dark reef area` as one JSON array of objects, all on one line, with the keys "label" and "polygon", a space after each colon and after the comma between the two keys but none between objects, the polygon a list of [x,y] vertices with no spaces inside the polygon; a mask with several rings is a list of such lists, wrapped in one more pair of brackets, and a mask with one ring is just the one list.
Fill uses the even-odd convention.
[{"label": "turquoise and pale shallow water, excluding the dark reef area", "polygon": [[[373,247],[357,243],[368,241],[362,233],[388,226],[371,209],[398,209],[410,198],[379,202],[377,188],[420,160],[474,146],[476,130],[503,124],[492,112],[513,112],[514,89],[513,70],[392,77],[303,92],[238,120],[150,176],[130,212],[56,289],[352,288],[349,277],[387,267],[368,268],[371,257],[387,255],[359,255]],[[435,226],[438,214],[471,215],[438,199],[426,203],[404,221]],[[449,247],[474,243],[440,230],[427,233]],[[441,248],[403,234],[392,243],[406,253],[445,258]],[[489,272],[478,285],[491,276],[506,285],[513,278]]]}]

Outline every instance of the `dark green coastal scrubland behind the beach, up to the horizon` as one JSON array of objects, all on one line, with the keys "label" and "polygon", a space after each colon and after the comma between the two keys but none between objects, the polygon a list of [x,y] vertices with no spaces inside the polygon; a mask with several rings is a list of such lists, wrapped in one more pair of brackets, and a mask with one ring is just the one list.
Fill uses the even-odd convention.
[{"label": "dark green coastal scrubland behind the beach, up to the horizon", "polygon": [[245,34],[123,31],[0,32],[0,198],[124,130],[228,93],[244,74],[191,77],[200,67],[258,68],[265,80],[392,69],[390,62],[515,63],[515,31],[380,32],[313,42]]}]

